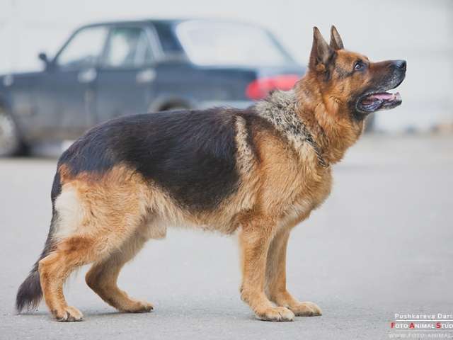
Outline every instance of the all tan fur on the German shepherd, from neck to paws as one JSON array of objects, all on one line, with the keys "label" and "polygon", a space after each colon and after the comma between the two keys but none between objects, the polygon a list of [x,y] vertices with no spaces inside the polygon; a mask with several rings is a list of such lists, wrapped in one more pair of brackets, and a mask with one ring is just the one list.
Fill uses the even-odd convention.
[{"label": "all tan fur on the German shepherd, from neck to paws", "polygon": [[[345,67],[350,68],[356,57],[338,51]],[[162,188],[125,165],[102,176],[76,177],[61,166],[62,193],[55,201],[58,242],[39,266],[45,301],[55,317],[81,319],[64,300],[62,287],[74,268],[88,263],[93,266],[86,282],[105,302],[125,312],[151,310],[149,303],[120,290],[117,277],[147,239],[165,237],[167,227],[180,225],[222,234],[239,231],[241,298],[260,319],[320,315],[314,303],[299,302],[287,291],[285,262],[292,227],[309,217],[331,191],[331,167],[321,166],[306,135],[291,128],[303,122],[323,159],[335,164],[360,136],[363,123],[350,119],[346,101],[360,80],[336,79],[335,86],[326,87],[316,72],[308,72],[294,90],[277,91],[258,103],[256,110],[272,128],[254,125],[248,135],[245,120],[236,119],[240,185],[212,211],[181,208]]]}]

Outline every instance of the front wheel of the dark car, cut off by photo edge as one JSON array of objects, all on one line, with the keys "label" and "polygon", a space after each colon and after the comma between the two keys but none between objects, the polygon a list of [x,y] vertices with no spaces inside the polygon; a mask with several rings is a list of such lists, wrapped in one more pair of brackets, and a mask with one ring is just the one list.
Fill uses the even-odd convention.
[{"label": "front wheel of the dark car, cut off by photo edge", "polygon": [[0,157],[13,156],[21,150],[16,123],[5,108],[0,107]]}]

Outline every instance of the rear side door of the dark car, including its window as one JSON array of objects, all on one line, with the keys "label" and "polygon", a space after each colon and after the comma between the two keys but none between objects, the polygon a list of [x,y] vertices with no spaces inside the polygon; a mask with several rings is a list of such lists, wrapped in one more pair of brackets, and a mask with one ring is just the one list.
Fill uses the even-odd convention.
[{"label": "rear side door of the dark car, including its window", "polygon": [[147,26],[113,26],[98,69],[98,122],[147,113],[154,98],[155,55]]}]

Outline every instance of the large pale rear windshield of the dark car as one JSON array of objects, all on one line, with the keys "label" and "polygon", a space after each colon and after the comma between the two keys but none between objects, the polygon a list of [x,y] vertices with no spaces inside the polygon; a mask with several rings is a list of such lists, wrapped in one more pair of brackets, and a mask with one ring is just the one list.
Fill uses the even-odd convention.
[{"label": "large pale rear windshield of the dark car", "polygon": [[199,65],[281,66],[289,55],[270,33],[244,23],[185,21],[176,34],[191,62]]}]

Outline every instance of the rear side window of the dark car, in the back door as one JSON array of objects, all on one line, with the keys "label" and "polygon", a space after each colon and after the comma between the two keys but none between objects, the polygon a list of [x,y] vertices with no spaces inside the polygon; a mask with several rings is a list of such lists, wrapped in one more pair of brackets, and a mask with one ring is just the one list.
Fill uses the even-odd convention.
[{"label": "rear side window of the dark car, in the back door", "polygon": [[113,28],[108,38],[103,66],[143,67],[153,60],[149,37],[143,28]]}]

